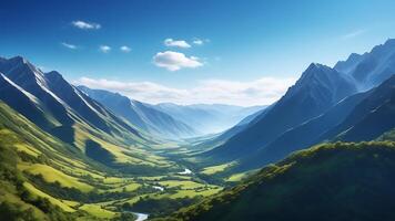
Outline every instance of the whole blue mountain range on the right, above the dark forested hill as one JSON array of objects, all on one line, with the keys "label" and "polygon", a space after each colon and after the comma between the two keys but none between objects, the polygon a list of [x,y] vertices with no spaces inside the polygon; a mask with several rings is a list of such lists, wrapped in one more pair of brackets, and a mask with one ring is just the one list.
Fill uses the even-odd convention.
[{"label": "whole blue mountain range on the right, above the dark forested hill", "polygon": [[392,127],[387,117],[394,69],[394,40],[363,55],[351,54],[334,67],[312,63],[266,112],[201,158],[216,164],[237,160],[236,170],[245,170],[324,140],[374,139]]}]

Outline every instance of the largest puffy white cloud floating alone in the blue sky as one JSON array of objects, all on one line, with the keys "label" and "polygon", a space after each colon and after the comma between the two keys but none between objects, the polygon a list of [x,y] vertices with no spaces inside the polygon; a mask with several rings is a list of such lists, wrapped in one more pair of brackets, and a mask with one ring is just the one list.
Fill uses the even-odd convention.
[{"label": "largest puffy white cloud floating alone in the blue sky", "polygon": [[185,54],[173,51],[158,52],[153,56],[153,63],[156,66],[164,67],[169,71],[178,71],[184,67],[199,67],[203,66],[203,63],[195,56],[185,56]]}]

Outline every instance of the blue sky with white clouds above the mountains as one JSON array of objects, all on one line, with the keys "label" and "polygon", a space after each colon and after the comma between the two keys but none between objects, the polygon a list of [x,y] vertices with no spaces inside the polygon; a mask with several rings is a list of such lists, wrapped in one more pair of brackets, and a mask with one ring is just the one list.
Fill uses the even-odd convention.
[{"label": "blue sky with white clouds above the mountains", "polygon": [[4,0],[0,56],[148,103],[266,105],[395,38],[393,0]]}]

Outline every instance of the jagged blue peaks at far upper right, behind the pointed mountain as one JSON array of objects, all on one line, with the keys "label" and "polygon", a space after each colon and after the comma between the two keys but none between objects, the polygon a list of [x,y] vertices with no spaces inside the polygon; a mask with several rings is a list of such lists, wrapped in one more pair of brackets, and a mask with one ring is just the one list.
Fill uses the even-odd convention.
[{"label": "jagged blue peaks at far upper right, behind the pointed mountain", "polygon": [[395,73],[395,39],[373,48],[368,53],[353,53],[334,69],[355,78],[359,90],[377,86]]}]

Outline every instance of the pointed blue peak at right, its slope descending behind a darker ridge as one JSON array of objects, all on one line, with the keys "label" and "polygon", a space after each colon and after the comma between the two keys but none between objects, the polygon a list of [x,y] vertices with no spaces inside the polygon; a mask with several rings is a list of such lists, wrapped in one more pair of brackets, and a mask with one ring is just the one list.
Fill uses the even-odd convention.
[{"label": "pointed blue peak at right, its slope descending behind a darker ridge", "polygon": [[267,112],[255,117],[245,129],[203,157],[233,160],[253,154],[286,130],[320,116],[354,93],[356,87],[350,77],[328,66],[313,63]]}]

